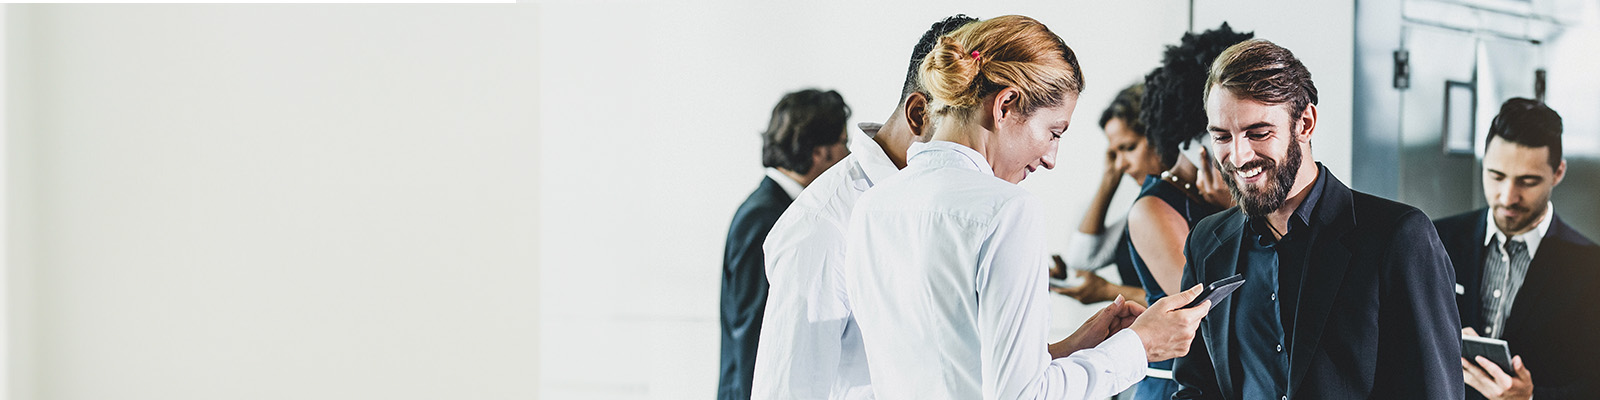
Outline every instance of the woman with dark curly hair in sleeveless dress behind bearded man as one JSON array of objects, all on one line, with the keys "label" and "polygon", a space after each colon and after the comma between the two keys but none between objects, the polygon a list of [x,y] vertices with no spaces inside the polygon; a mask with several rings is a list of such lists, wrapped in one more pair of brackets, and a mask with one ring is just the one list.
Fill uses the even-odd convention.
[{"label": "woman with dark curly hair in sleeveless dress behind bearded man", "polygon": [[[1179,45],[1166,46],[1162,66],[1144,77],[1139,122],[1160,170],[1144,176],[1139,197],[1128,210],[1128,238],[1133,267],[1149,302],[1179,290],[1189,230],[1200,219],[1234,206],[1227,184],[1203,147],[1202,96],[1211,61],[1251,37],[1234,32],[1226,22],[1198,35],[1184,34]],[[1133,398],[1171,398],[1178,392],[1171,371],[1171,360],[1150,363],[1149,378],[1134,387]]]}]

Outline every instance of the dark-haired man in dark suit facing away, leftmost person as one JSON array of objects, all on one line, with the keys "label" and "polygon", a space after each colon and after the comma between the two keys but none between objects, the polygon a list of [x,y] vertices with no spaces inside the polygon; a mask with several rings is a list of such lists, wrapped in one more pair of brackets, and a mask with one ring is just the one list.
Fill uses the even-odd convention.
[{"label": "dark-haired man in dark suit facing away, leftmost person", "polygon": [[845,125],[850,107],[835,91],[784,94],[762,133],[766,178],[739,205],[722,258],[722,368],[718,400],[750,398],[755,346],[766,309],[762,243],[800,189],[850,154]]}]

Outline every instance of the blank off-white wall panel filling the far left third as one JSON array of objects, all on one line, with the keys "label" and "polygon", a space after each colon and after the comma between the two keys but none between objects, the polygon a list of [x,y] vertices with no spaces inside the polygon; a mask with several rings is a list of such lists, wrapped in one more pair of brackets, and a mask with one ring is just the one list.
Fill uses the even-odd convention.
[{"label": "blank off-white wall panel filling the far left third", "polygon": [[533,6],[10,6],[10,398],[530,398]]}]

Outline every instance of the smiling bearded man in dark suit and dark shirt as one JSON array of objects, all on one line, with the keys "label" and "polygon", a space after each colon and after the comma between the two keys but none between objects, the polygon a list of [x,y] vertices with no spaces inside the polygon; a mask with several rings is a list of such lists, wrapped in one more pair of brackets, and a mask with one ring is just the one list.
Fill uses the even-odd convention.
[{"label": "smiling bearded man in dark suit and dark shirt", "polygon": [[1317,88],[1293,53],[1216,58],[1205,112],[1238,206],[1189,234],[1184,286],[1245,283],[1200,323],[1174,398],[1462,397],[1454,270],[1422,211],[1312,162]]}]

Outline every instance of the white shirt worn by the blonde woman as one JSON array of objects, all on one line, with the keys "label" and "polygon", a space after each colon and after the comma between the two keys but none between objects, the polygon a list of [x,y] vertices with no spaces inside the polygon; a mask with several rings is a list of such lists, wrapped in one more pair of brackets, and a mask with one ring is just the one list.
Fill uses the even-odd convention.
[{"label": "white shirt worn by the blonde woman", "polygon": [[1139,336],[1050,358],[1045,214],[976,150],[934,141],[862,195],[845,288],[878,398],[1104,398],[1144,378]]}]

